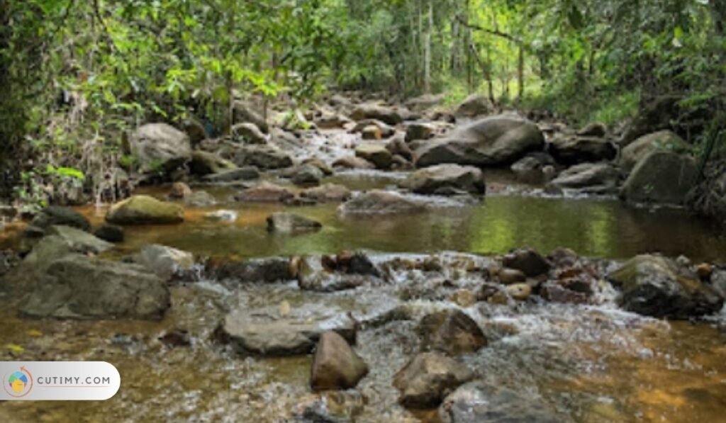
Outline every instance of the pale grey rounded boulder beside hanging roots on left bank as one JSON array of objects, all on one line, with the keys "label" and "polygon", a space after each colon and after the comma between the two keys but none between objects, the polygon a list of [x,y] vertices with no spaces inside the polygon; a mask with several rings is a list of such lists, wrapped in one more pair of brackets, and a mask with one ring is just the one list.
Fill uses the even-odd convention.
[{"label": "pale grey rounded boulder beside hanging roots on left bank", "polygon": [[191,159],[192,143],[187,134],[166,123],[148,123],[131,136],[131,152],[139,171],[168,172]]}]

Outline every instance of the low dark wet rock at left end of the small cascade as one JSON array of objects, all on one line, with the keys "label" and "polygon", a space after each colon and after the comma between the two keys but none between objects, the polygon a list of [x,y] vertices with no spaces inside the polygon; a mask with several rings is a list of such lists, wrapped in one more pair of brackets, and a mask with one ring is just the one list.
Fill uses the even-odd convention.
[{"label": "low dark wet rock at left end of the small cascade", "polygon": [[217,279],[233,279],[240,283],[273,283],[295,278],[287,258],[254,260],[210,260],[208,272]]}]

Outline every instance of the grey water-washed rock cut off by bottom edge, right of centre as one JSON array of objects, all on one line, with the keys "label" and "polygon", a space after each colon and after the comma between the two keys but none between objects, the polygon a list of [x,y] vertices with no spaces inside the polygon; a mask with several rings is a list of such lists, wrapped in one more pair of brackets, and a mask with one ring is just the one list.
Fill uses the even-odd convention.
[{"label": "grey water-washed rock cut off by bottom edge, right of centre", "polygon": [[469,382],[444,399],[439,407],[444,423],[559,423],[566,421],[547,403],[483,381]]}]

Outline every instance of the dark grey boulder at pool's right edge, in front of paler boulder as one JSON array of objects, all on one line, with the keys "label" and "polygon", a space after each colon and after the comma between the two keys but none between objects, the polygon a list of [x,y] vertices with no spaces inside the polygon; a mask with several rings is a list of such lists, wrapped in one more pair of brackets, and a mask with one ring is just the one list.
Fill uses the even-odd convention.
[{"label": "dark grey boulder at pool's right edge, in front of paler boulder", "polygon": [[620,194],[628,202],[681,205],[697,179],[698,165],[693,157],[658,150],[635,166]]}]

